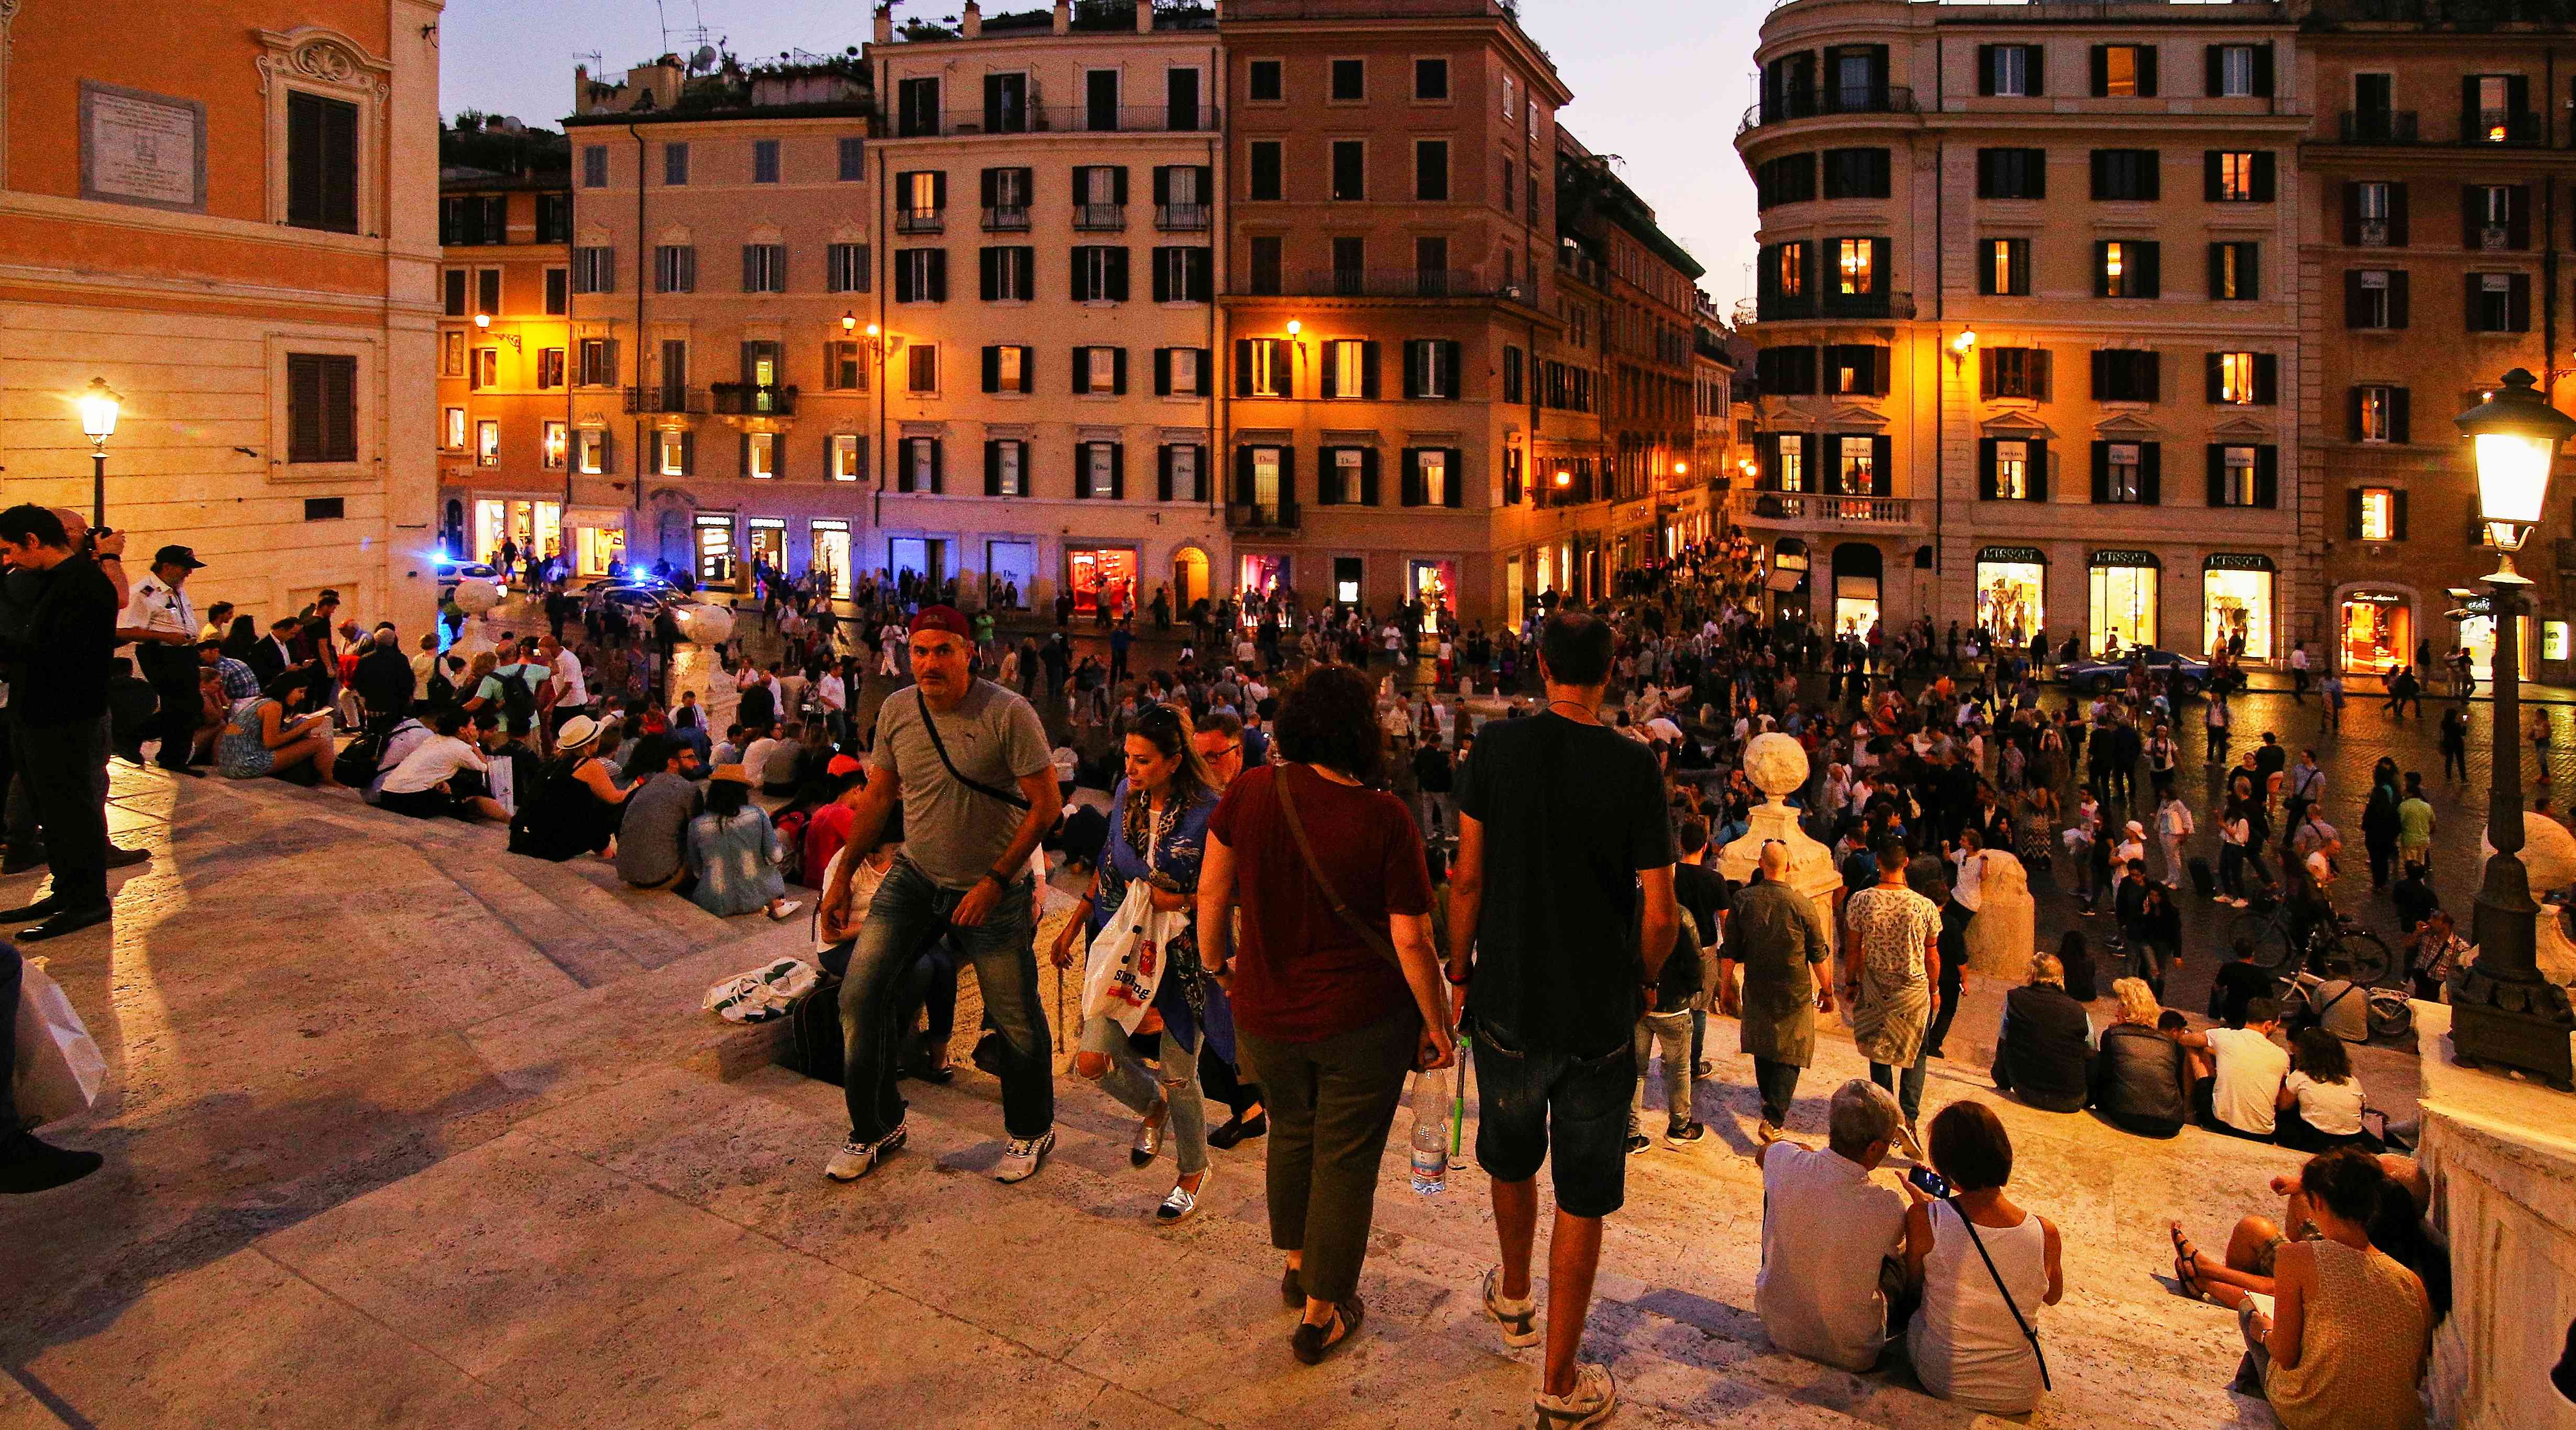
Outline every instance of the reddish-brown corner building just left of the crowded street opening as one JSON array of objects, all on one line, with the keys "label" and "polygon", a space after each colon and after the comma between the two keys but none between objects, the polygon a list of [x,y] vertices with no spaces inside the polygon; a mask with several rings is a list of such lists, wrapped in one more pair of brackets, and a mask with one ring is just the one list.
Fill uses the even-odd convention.
[{"label": "reddish-brown corner building just left of the crowded street opening", "polygon": [[1577,461],[1533,379],[1571,93],[1494,0],[1226,0],[1221,28],[1236,587],[1517,616],[1553,528],[1533,456]]}]

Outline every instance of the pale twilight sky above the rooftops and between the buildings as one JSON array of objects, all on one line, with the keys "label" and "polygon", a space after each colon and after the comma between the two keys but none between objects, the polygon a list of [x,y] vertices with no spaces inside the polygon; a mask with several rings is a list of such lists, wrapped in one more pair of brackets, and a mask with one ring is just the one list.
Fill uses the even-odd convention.
[{"label": "pale twilight sky above the rooftops and between the buildings", "polygon": [[[1038,0],[1025,0],[1038,3]],[[706,28],[734,54],[783,49],[837,54],[866,44],[860,0],[698,0]],[[690,0],[662,0],[672,28],[688,28]],[[1018,10],[1023,0],[997,0]],[[1736,119],[1752,103],[1754,31],[1767,5],[1754,0],[1522,0],[1522,26],[1548,46],[1574,108],[1566,124],[1595,152],[1625,160],[1623,175],[1656,209],[1664,229],[1705,268],[1700,286],[1718,312],[1752,294],[1754,193],[1736,162]],[[896,18],[956,15],[953,0],[909,0]],[[600,54],[623,72],[662,52],[654,5],[644,0],[448,0],[438,26],[446,113],[482,108],[554,124],[572,108],[577,54]]]}]

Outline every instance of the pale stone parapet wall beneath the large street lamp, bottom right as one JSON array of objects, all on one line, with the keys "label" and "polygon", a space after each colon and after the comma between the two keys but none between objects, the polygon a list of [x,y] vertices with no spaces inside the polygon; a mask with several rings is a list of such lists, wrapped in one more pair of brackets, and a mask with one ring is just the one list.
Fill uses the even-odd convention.
[{"label": "pale stone parapet wall beneath the large street lamp, bottom right", "polygon": [[2432,1337],[2432,1407],[2458,1430],[2576,1430],[2550,1386],[2576,1319],[2576,1098],[2450,1059],[2450,1007],[2416,1002],[2434,1224],[2452,1309]]}]

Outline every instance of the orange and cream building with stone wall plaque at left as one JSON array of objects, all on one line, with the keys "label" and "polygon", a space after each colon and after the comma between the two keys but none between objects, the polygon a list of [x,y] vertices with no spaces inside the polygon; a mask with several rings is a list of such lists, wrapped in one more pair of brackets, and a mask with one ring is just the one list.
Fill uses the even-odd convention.
[{"label": "orange and cream building with stone wall plaque at left", "polygon": [[193,546],[201,605],[335,587],[428,626],[435,28],[410,0],[0,3],[10,500],[90,510],[98,379],[106,520]]}]

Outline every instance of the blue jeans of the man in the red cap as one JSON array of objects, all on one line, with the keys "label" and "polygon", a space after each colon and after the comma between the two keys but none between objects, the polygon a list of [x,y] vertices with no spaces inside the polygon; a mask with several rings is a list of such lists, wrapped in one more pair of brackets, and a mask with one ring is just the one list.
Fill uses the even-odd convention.
[{"label": "blue jeans of the man in the red cap", "polygon": [[984,922],[953,928],[948,915],[966,894],[938,886],[920,866],[896,855],[886,881],[876,886],[866,922],[858,925],[850,977],[840,984],[850,1141],[876,1141],[904,1121],[904,1098],[894,1090],[896,1054],[904,1046],[904,1028],[896,1025],[902,984],[938,938],[945,938],[958,958],[974,961],[984,1013],[1002,1031],[1002,1131],[1043,1136],[1056,1123],[1054,1044],[1046,1033],[1046,1005],[1038,1002],[1033,891],[1030,876],[1023,873],[1002,889]]}]

